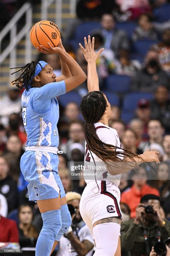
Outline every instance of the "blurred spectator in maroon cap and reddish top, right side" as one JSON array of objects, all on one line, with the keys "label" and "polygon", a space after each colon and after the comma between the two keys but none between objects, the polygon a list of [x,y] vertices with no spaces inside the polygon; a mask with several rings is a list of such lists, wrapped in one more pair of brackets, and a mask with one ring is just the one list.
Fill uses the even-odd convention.
[{"label": "blurred spectator in maroon cap and reddish top, right side", "polygon": [[138,101],[137,109],[135,111],[137,118],[143,122],[143,139],[148,139],[147,124],[151,118],[151,110],[149,107],[149,101],[141,99]]}]

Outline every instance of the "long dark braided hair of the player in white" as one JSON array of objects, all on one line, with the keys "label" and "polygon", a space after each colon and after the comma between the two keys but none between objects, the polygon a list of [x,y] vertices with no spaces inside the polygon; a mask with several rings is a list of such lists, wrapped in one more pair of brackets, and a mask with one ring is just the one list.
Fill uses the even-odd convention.
[{"label": "long dark braided hair of the player in white", "polygon": [[[106,144],[97,136],[94,123],[99,122],[106,107],[107,101],[103,93],[99,91],[88,93],[81,101],[80,109],[85,120],[84,135],[89,151],[92,151],[98,158],[103,160],[103,162],[123,161],[123,159],[119,158],[120,156],[128,157],[132,162],[135,162],[133,157],[138,156],[137,154],[125,149],[120,152],[121,147]],[[115,150],[113,151],[112,149]],[[116,149],[118,150],[116,151]],[[140,156],[138,156],[138,158],[140,158]]]}]

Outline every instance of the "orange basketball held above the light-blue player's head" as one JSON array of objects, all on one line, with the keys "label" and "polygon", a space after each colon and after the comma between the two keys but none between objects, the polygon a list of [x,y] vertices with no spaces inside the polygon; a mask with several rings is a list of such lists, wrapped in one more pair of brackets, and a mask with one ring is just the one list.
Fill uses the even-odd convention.
[{"label": "orange basketball held above the light-blue player's head", "polygon": [[60,41],[60,30],[52,21],[39,21],[30,31],[30,40],[34,47],[43,45],[49,48],[47,43],[56,47]]}]

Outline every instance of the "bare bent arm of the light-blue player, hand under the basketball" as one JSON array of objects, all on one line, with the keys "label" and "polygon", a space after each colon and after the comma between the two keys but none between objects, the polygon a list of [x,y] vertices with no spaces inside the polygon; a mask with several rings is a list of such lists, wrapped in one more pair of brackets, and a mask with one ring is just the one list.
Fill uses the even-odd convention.
[{"label": "bare bent arm of the light-blue player, hand under the basketball", "polygon": [[71,77],[64,79],[66,84],[66,92],[69,92],[76,88],[78,85],[82,84],[87,77],[79,64],[61,47],[52,47],[50,43],[48,43],[48,45],[49,48],[40,45],[41,47],[37,47],[37,50],[45,54],[58,53],[60,59],[62,59],[62,61],[67,64],[71,73]]}]

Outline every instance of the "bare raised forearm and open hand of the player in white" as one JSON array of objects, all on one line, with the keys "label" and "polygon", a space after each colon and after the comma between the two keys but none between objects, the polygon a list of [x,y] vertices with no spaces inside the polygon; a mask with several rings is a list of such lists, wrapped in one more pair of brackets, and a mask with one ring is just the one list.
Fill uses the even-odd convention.
[{"label": "bare raised forearm and open hand of the player in white", "polygon": [[88,43],[86,37],[84,37],[85,49],[81,44],[80,48],[84,53],[84,57],[88,62],[88,91],[99,91],[99,78],[96,70],[96,59],[99,57],[100,53],[103,52],[104,48],[100,49],[98,53],[94,51],[94,37],[92,42],[90,36],[88,36]]}]

